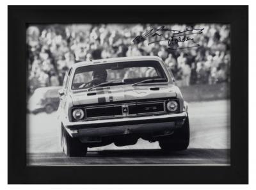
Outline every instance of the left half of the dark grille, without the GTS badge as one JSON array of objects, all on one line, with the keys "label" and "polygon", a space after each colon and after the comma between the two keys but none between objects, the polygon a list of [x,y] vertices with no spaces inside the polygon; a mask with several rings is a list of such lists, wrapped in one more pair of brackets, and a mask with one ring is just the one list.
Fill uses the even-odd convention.
[{"label": "left half of the dark grille, without the GTS badge", "polygon": [[114,117],[122,115],[122,106],[87,107],[86,118]]}]

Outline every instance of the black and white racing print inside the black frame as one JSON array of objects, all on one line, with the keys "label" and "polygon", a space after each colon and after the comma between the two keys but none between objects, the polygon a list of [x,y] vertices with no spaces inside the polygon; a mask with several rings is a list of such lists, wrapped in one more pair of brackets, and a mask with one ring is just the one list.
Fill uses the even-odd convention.
[{"label": "black and white racing print inside the black frame", "polygon": [[28,24],[28,166],[230,166],[230,24]]}]

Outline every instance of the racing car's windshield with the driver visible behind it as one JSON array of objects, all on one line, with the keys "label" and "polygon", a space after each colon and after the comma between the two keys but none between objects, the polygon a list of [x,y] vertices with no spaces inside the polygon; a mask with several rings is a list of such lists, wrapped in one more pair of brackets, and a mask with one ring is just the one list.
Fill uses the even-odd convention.
[{"label": "racing car's windshield with the driver visible behind it", "polygon": [[[147,79],[168,81],[159,61],[127,61],[78,67],[72,80],[71,89],[92,88],[101,83],[109,85],[134,84]],[[122,81],[123,83],[111,83],[112,81]],[[148,83],[156,82],[159,81],[148,80]],[[145,85],[145,83],[141,83],[141,85],[143,84]]]}]

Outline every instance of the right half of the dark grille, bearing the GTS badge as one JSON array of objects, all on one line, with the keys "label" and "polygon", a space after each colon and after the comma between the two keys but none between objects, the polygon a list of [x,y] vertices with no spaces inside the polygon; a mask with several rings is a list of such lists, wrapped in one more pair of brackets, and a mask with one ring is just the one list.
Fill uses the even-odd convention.
[{"label": "right half of the dark grille, bearing the GTS badge", "polygon": [[162,113],[164,112],[164,102],[152,103],[137,103],[128,106],[129,115],[140,115],[147,113]]}]

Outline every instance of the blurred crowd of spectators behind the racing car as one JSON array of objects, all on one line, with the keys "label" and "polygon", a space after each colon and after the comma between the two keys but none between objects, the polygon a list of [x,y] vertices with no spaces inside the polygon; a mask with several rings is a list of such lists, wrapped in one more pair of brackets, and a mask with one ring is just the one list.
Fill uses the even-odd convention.
[{"label": "blurred crowd of spectators behind the racing car", "polygon": [[[80,61],[125,56],[159,56],[172,70],[178,86],[216,84],[230,81],[230,26],[195,24],[202,34],[189,36],[199,47],[168,49],[168,42],[153,43],[163,36],[148,36],[140,44],[132,40],[156,24],[72,24],[38,25],[27,29],[29,90],[42,86],[58,86],[71,65]],[[189,26],[165,25],[178,31]],[[189,42],[179,43],[179,47]]]}]

